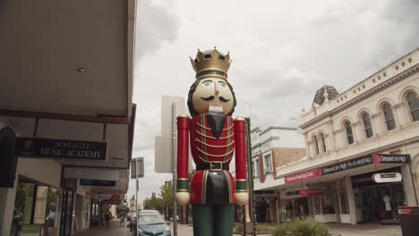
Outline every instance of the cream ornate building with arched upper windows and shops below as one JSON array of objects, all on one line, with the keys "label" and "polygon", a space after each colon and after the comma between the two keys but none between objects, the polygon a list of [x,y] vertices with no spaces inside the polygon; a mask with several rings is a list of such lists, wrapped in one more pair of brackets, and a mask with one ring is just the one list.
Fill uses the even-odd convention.
[{"label": "cream ornate building with arched upper windows and shops below", "polygon": [[279,219],[398,223],[418,205],[419,50],[338,93],[323,86],[303,110],[306,156],[277,168]]}]

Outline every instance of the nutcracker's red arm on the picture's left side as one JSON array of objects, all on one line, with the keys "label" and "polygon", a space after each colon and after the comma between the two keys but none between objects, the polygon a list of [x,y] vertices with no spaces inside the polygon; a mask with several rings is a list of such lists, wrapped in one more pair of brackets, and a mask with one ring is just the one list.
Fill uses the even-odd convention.
[{"label": "nutcracker's red arm on the picture's left side", "polygon": [[189,129],[191,118],[187,115],[177,117],[177,180],[176,191],[188,193],[188,158],[189,158]]}]

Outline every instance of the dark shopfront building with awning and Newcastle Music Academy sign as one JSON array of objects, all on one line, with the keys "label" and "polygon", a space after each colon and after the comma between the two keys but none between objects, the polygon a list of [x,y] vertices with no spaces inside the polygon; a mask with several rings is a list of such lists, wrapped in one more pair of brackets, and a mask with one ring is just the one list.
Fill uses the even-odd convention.
[{"label": "dark shopfront building with awning and Newcastle Music Academy sign", "polygon": [[2,2],[0,235],[75,235],[124,200],[135,10]]}]

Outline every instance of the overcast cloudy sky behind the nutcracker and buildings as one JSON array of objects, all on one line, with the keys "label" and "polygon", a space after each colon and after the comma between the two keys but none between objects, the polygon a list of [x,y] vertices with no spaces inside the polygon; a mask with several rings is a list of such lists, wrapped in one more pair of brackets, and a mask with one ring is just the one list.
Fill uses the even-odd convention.
[{"label": "overcast cloudy sky behind the nutcracker and buildings", "polygon": [[234,116],[250,115],[262,130],[297,126],[316,89],[341,93],[417,48],[418,13],[417,0],[137,0],[133,157],[146,165],[139,199],[171,179],[154,172],[161,96],[187,97],[197,48],[230,52]]}]

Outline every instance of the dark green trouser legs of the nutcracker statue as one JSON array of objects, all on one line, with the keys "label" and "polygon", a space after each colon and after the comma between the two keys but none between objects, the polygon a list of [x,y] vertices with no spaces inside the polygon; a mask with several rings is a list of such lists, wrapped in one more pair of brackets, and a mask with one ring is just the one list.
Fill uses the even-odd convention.
[{"label": "dark green trouser legs of the nutcracker statue", "polygon": [[192,205],[193,236],[232,236],[235,205]]}]

